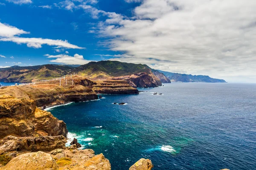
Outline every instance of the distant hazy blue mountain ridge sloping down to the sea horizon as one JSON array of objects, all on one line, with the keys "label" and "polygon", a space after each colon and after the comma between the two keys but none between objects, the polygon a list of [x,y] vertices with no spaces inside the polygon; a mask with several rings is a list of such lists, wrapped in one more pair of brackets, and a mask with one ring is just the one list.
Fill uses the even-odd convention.
[{"label": "distant hazy blue mountain ridge sloping down to the sea horizon", "polygon": [[214,79],[209,76],[203,75],[191,75],[191,74],[179,74],[179,73],[172,73],[167,71],[160,71],[168,77],[172,82],[226,82],[223,79]]}]

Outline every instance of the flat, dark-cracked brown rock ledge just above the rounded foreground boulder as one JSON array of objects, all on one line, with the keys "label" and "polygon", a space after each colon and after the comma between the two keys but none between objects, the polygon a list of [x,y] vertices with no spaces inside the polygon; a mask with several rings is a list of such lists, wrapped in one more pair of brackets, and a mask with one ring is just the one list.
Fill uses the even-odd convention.
[{"label": "flat, dark-cracked brown rock ledge just above the rounded foreground boulder", "polygon": [[7,136],[0,140],[0,154],[14,150],[52,150],[64,148],[67,139],[64,136],[15,137]]}]

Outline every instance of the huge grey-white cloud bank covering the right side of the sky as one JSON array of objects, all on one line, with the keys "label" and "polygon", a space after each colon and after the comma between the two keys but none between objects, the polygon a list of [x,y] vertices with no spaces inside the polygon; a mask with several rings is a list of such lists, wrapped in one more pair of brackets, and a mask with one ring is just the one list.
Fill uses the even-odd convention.
[{"label": "huge grey-white cloud bank covering the right side of the sky", "polygon": [[[164,71],[250,77],[256,72],[256,1],[144,0],[134,17],[100,22],[104,45]],[[118,14],[117,14],[118,15]]]}]

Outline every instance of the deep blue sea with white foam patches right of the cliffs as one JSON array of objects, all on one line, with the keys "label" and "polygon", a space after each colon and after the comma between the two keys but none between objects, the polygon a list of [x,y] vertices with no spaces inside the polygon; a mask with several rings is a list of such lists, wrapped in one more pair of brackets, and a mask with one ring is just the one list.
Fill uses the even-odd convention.
[{"label": "deep blue sea with white foam patches right of the cliffs", "polygon": [[[112,170],[256,170],[256,84],[172,83],[49,109]],[[163,95],[153,95],[154,92]],[[125,102],[127,105],[113,105]]]}]

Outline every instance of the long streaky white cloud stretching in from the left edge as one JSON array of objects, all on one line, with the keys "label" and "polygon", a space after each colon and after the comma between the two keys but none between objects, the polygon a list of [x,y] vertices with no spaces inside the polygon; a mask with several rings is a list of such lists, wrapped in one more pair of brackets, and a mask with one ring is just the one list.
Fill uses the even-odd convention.
[{"label": "long streaky white cloud stretching in from the left edge", "polygon": [[13,26],[0,23],[0,41],[16,42],[17,44],[26,44],[28,47],[41,48],[42,45],[56,46],[55,48],[73,48],[84,49],[77,45],[70,44],[67,40],[51,40],[43,38],[23,38],[18,37],[21,34],[30,34]]}]

